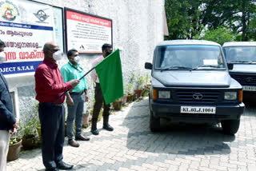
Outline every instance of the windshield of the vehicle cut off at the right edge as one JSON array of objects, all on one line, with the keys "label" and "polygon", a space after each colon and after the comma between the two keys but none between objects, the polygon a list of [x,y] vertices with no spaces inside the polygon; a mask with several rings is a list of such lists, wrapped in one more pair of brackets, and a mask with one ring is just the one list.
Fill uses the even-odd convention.
[{"label": "windshield of the vehicle cut off at the right edge", "polygon": [[256,46],[224,47],[223,50],[228,63],[256,62]]}]

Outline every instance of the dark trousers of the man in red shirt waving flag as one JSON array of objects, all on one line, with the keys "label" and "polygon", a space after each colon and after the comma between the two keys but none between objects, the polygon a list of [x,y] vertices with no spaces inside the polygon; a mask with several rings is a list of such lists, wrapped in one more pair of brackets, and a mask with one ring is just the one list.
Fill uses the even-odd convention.
[{"label": "dark trousers of the man in red shirt waving flag", "polygon": [[54,169],[63,158],[65,109],[63,105],[40,102],[38,113],[42,133],[42,162],[46,169]]}]

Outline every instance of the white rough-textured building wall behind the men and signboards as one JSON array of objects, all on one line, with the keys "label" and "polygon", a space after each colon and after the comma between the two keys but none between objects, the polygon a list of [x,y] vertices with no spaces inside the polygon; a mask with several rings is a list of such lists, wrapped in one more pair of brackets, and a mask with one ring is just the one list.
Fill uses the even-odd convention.
[{"label": "white rough-textured building wall behind the men and signboards", "polygon": [[[89,14],[113,20],[113,46],[119,48],[122,60],[124,86],[130,74],[149,74],[144,70],[145,62],[152,62],[154,46],[163,40],[163,9],[164,0],[42,0],[52,6],[69,7]],[[80,65],[85,71],[90,70],[91,63],[98,55],[81,54]],[[65,58],[58,62],[59,68],[66,64]],[[17,109],[21,119],[35,112],[34,74],[8,77],[10,91],[18,95]],[[94,99],[94,85],[90,76],[86,76],[89,84],[90,102]],[[16,99],[16,100],[17,100]]]}]

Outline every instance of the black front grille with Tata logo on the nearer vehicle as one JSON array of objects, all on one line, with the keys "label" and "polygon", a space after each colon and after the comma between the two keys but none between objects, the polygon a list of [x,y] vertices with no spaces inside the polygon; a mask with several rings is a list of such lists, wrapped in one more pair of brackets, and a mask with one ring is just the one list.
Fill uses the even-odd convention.
[{"label": "black front grille with Tata logo on the nearer vehicle", "polygon": [[[206,103],[206,104],[217,104],[218,98],[221,96],[221,93],[218,90],[182,90],[177,89],[176,91],[178,102],[180,103]],[[201,99],[194,98],[202,94]],[[201,96],[200,96],[201,97]]]}]

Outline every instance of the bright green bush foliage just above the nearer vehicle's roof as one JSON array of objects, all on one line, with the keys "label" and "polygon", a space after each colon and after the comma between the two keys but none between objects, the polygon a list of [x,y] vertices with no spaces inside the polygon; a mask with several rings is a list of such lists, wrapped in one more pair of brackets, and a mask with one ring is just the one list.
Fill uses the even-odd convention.
[{"label": "bright green bush foliage just above the nearer vehicle's roof", "polygon": [[206,30],[202,37],[196,36],[195,38],[201,40],[208,40],[213,42],[218,42],[223,45],[224,42],[232,42],[235,40],[235,35],[231,31],[223,26],[219,26],[215,30]]}]

